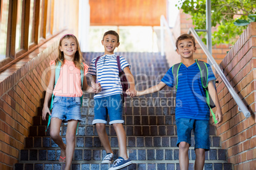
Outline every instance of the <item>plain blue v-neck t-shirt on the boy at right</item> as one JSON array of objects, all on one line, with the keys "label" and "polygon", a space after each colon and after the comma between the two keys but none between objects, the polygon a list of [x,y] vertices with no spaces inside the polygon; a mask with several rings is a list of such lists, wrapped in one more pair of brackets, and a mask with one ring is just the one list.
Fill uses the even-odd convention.
[{"label": "plain blue v-neck t-shirt on the boy at right", "polygon": [[[207,63],[208,82],[215,80],[213,70]],[[162,78],[167,86],[171,88],[174,85],[173,67]],[[208,121],[210,117],[210,108],[206,103],[206,94],[201,82],[201,74],[197,63],[186,67],[181,63],[178,72],[178,89],[176,93],[175,118],[189,118]]]}]

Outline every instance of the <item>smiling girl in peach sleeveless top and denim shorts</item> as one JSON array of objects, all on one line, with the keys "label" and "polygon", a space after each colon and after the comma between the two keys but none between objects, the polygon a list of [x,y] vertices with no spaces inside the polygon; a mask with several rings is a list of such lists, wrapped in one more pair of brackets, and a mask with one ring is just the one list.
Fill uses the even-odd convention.
[{"label": "smiling girl in peach sleeveless top and denim shorts", "polygon": [[[81,70],[85,75],[88,65],[82,63],[83,57],[76,37],[73,34],[66,34],[59,41],[59,56],[55,61],[51,61],[51,75],[43,105],[43,120],[46,114],[51,115],[50,136],[60,147],[59,162],[66,162],[65,169],[70,169],[75,150],[76,126],[82,121],[81,101],[83,95]],[[55,69],[61,63],[60,74],[57,83],[55,82]],[[87,86],[86,78],[83,79],[83,89],[89,93],[101,91],[100,84],[90,87]],[[52,114],[48,108],[48,101],[53,95]],[[60,136],[60,126],[62,121],[68,122],[66,131],[66,145]]]}]

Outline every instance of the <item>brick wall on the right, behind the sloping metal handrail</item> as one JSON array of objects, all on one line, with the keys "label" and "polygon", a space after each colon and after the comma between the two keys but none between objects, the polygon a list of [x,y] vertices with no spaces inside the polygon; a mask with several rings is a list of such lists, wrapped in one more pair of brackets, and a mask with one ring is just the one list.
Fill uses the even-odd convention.
[{"label": "brick wall on the right, behind the sloping metal handrail", "polygon": [[220,63],[231,86],[250,108],[251,116],[246,118],[238,111],[238,105],[224,85],[217,78],[218,98],[224,114],[224,121],[217,126],[222,138],[222,148],[227,150],[227,159],[234,169],[255,169],[256,167],[256,22],[247,29],[232,46]]}]

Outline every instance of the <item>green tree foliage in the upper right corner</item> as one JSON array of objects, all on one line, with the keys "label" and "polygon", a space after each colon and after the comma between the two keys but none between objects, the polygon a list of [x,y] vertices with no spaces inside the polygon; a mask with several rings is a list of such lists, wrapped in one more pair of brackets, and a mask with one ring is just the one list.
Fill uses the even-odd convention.
[{"label": "green tree foliage in the upper right corner", "polygon": [[[192,16],[195,29],[206,29],[206,0],[180,0],[179,8]],[[214,44],[232,44],[236,37],[246,29],[245,23],[255,22],[256,0],[211,0],[211,25],[217,27],[213,32]],[[238,23],[237,27],[235,24]],[[198,32],[206,37],[206,32]],[[203,38],[206,42],[206,38]]]}]

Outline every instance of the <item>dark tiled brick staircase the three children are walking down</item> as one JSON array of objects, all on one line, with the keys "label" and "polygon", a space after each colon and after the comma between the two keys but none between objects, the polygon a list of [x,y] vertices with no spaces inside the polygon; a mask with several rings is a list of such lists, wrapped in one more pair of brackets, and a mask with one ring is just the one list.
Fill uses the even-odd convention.
[{"label": "dark tiled brick staircase the three children are walking down", "polygon": [[[103,53],[84,53],[87,64],[92,58]],[[117,53],[125,56],[132,65],[131,71],[136,80],[136,89],[142,90],[158,84],[169,69],[167,61],[160,53]],[[90,82],[90,77],[87,77]],[[126,114],[124,109],[124,128],[127,134],[128,155],[133,164],[123,169],[180,169],[178,162],[177,133],[175,126],[176,91],[166,87],[158,93],[127,98]],[[108,169],[109,164],[101,164],[106,155],[97,136],[94,119],[93,94],[83,97],[82,117],[76,136],[75,154],[71,168],[74,169]],[[42,108],[38,108],[41,113]],[[65,142],[67,124],[61,126],[60,134]],[[20,161],[15,169],[64,169],[59,164],[59,147],[51,140],[49,129],[45,132],[46,121],[41,115],[34,117],[29,137],[25,140],[24,150],[20,150]],[[114,159],[118,157],[118,142],[113,126],[106,126],[113,148]],[[194,138],[194,136],[192,136]],[[194,140],[192,140],[194,142]],[[220,138],[215,135],[215,126],[210,126],[211,150],[206,152],[204,169],[232,169],[227,163],[226,150],[220,147]],[[188,151],[189,169],[194,169],[194,143]]]}]

